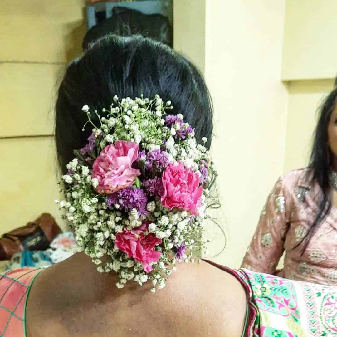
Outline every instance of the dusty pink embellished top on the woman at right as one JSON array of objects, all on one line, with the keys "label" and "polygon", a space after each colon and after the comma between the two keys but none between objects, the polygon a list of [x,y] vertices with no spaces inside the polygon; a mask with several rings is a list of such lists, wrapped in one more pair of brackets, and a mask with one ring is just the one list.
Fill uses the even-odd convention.
[{"label": "dusty pink embellished top on the woman at right", "polygon": [[[282,176],[268,196],[257,228],[242,262],[252,271],[337,285],[337,209],[332,207],[304,254],[304,241],[315,215],[321,191],[310,185],[308,169]],[[283,252],[284,269],[276,271]]]}]

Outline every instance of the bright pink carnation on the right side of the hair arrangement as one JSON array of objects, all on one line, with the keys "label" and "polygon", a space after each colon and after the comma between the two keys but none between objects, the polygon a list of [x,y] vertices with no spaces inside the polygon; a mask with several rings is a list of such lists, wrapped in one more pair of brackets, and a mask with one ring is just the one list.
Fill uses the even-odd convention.
[{"label": "bright pink carnation on the right side of the hair arrangement", "polygon": [[199,215],[203,188],[200,177],[192,168],[185,168],[183,163],[170,164],[163,173],[164,194],[161,197],[163,206],[172,210],[180,208],[194,215]]}]

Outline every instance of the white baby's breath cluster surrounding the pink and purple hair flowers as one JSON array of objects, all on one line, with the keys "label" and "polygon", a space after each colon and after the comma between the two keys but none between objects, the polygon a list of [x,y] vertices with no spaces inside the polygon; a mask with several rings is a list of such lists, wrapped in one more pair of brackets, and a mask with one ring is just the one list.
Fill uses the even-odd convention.
[{"label": "white baby's breath cluster surrounding the pink and purple hair flowers", "polygon": [[[203,144],[198,144],[194,131],[183,121],[183,115],[177,115],[181,122],[166,125],[165,116],[172,109],[171,102],[164,103],[158,95],[152,100],[143,96],[119,100],[115,96],[110,108],[102,109],[100,114],[97,111],[91,113],[88,105],[82,108],[88,116],[88,123],[93,125],[94,145],[86,155],[75,151],[76,158],[67,164],[68,173],[62,177],[65,200],[56,202],[60,209],[65,210],[65,218],[71,223],[79,251],[91,257],[99,272],[116,272],[118,288],[123,288],[130,280],[140,285],[152,282],[151,291],[155,292],[156,288],[165,287],[167,277],[176,270],[178,262],[193,263],[195,254],[200,257],[207,251],[203,233],[205,219],[208,218],[207,196],[216,171],[205,147],[207,139],[204,137]],[[178,136],[186,130],[189,132],[184,133],[185,137]],[[93,179],[90,172],[100,151],[117,140],[137,143],[145,152],[161,149],[167,153],[169,162],[183,162],[186,168],[192,168],[200,177],[203,165],[208,165],[199,215],[180,209],[170,211],[162,205],[158,196],[149,197],[147,215],[139,214],[135,208],[125,211],[119,202],[108,207],[107,195],[96,192],[98,180]],[[144,168],[142,172],[144,175]],[[141,263],[115,245],[118,233],[123,233],[125,228],[132,231],[145,222],[148,223],[145,234],[161,239],[161,244],[154,248],[161,252],[160,258],[151,263],[152,271],[149,273],[145,272]],[[181,255],[178,254],[179,249]]]}]

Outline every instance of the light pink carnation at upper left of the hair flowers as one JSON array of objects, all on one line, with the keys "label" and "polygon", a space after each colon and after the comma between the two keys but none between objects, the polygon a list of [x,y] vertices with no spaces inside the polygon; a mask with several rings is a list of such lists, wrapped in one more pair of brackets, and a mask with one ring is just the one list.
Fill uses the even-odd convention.
[{"label": "light pink carnation at upper left of the hair flowers", "polygon": [[98,179],[96,191],[111,194],[132,185],[141,174],[131,168],[138,157],[138,144],[116,141],[106,146],[96,158],[91,171],[92,178]]}]

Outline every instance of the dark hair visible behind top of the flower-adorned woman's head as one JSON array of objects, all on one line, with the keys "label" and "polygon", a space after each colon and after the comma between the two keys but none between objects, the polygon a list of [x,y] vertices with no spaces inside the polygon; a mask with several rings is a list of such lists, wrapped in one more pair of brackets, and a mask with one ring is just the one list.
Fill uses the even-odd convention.
[{"label": "dark hair visible behind top of the flower-adorned woman's head", "polygon": [[161,14],[144,14],[138,10],[114,7],[112,17],[92,27],[84,37],[82,48],[86,50],[90,44],[106,34],[131,36],[140,34],[172,47],[172,26]]}]

